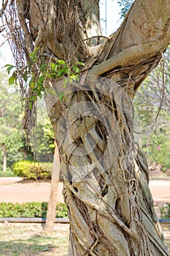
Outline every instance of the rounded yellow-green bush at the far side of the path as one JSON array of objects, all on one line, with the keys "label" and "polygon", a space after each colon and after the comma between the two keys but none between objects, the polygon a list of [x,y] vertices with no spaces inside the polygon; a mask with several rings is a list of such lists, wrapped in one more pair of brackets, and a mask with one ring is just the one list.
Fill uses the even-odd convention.
[{"label": "rounded yellow-green bush at the far side of the path", "polygon": [[15,162],[12,165],[12,170],[15,176],[26,177],[28,179],[36,178],[51,178],[53,163],[51,162],[31,162],[23,160]]}]

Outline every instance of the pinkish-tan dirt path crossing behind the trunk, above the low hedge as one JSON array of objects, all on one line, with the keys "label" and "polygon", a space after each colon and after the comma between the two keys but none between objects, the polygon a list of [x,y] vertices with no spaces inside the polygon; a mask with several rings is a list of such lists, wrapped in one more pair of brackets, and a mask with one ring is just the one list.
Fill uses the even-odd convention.
[{"label": "pinkish-tan dirt path crossing behind the trunk, above the low hedge", "polygon": [[[63,203],[63,183],[58,185],[58,202]],[[170,181],[151,180],[150,190],[155,202],[170,203]],[[21,178],[0,178],[0,202],[47,202],[50,181],[22,181]]]}]

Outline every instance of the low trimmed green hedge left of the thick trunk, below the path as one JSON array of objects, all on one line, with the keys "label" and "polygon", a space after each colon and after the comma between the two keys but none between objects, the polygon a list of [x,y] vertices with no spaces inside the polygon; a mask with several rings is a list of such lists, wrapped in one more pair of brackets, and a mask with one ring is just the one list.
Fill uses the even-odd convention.
[{"label": "low trimmed green hedge left of the thick trunk, below the path", "polygon": [[[45,218],[46,216],[46,202],[0,203],[0,218]],[[58,203],[56,206],[55,217],[68,217],[66,205],[64,203]]]}]

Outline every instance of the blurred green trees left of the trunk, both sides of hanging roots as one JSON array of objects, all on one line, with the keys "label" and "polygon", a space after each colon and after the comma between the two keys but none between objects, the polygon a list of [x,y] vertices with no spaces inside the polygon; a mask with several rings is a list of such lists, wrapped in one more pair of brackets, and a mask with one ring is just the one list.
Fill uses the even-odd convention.
[{"label": "blurred green trees left of the trunk, both sides of hanging roots", "polygon": [[10,170],[21,159],[53,162],[54,132],[47,118],[45,101],[39,100],[34,143],[29,146],[23,132],[23,110],[20,94],[15,86],[9,86],[7,75],[0,74],[0,145],[1,170]]}]

